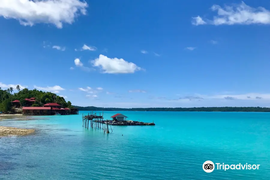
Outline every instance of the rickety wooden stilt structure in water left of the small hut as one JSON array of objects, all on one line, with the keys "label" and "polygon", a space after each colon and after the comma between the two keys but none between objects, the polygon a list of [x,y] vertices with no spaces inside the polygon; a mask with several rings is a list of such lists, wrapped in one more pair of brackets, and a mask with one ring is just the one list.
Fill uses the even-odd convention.
[{"label": "rickety wooden stilt structure in water left of the small hut", "polygon": [[[101,129],[101,126],[102,126],[102,130],[104,131],[104,134],[105,132],[106,133],[110,133],[109,131],[109,124],[108,123],[105,123],[105,121],[103,120],[103,112],[102,112],[102,116],[101,116],[101,113],[99,113],[99,116],[97,115],[97,113],[93,113],[93,111],[91,112],[91,114],[89,115],[84,115],[82,114],[82,127],[85,127],[85,128],[89,128],[89,121],[90,121],[90,128],[92,129]],[[106,120],[107,122],[108,120]],[[103,124],[106,124],[103,126]],[[112,128],[111,128],[112,130]],[[113,130],[112,130],[113,132]]]}]

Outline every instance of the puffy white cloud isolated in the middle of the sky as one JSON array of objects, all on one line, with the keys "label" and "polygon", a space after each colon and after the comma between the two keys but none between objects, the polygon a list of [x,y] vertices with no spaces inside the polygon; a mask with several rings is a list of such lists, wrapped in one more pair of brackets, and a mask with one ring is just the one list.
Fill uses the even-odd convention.
[{"label": "puffy white cloud isolated in the middle of the sky", "polygon": [[125,61],[122,58],[108,58],[102,54],[91,62],[94,67],[101,67],[103,73],[134,73],[135,71],[142,70],[142,68],[132,62]]}]

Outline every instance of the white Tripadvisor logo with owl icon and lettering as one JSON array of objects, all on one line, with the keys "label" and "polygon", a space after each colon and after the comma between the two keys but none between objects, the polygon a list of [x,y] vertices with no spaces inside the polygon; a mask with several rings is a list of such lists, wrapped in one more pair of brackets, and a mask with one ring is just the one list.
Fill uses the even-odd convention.
[{"label": "white Tripadvisor logo with owl icon and lettering", "polygon": [[212,161],[205,161],[202,164],[202,169],[206,172],[206,173],[211,173],[214,171],[215,169],[215,165],[216,165],[216,169],[217,170],[259,170],[259,166],[260,164],[224,164],[224,163],[213,163]]}]

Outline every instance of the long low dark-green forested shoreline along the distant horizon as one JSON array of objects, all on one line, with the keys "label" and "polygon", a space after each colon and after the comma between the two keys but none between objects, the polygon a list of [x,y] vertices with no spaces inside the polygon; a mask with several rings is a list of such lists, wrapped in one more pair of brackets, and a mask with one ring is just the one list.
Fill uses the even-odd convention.
[{"label": "long low dark-green forested shoreline along the distant horizon", "polygon": [[156,108],[102,108],[102,107],[80,107],[79,111],[190,111],[190,112],[270,112],[268,107],[156,107]]}]

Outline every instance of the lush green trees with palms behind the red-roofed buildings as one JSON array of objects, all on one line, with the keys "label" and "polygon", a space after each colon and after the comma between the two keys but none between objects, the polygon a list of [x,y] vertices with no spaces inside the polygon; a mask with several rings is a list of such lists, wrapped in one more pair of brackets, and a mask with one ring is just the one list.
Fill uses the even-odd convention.
[{"label": "lush green trees with palms behind the red-roofed buildings", "polygon": [[57,103],[62,107],[71,108],[71,102],[65,101],[63,97],[56,95],[51,92],[38,91],[37,89],[29,90],[24,88],[20,90],[20,86],[16,86],[17,92],[14,92],[12,87],[7,88],[6,90],[1,89],[0,87],[0,111],[8,112],[12,110],[11,101],[19,100],[20,105],[24,106],[26,104],[25,98],[36,98],[35,104],[32,107],[42,107],[46,103]]}]

